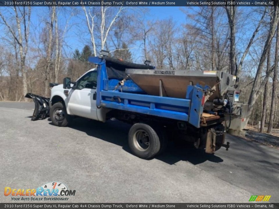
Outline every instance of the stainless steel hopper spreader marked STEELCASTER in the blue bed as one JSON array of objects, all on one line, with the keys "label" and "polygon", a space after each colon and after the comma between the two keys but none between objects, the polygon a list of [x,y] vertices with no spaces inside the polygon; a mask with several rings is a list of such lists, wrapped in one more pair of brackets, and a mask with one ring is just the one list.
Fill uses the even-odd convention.
[{"label": "stainless steel hopper spreader marked STEELCASTER in the blue bed", "polygon": [[[211,88],[217,84],[216,92],[208,101],[222,98],[228,87],[236,83],[237,77],[221,71],[175,71],[175,70],[145,70],[126,69],[126,74],[146,93],[160,96],[185,98],[188,85],[208,85]],[[160,81],[161,80],[161,81]]]}]

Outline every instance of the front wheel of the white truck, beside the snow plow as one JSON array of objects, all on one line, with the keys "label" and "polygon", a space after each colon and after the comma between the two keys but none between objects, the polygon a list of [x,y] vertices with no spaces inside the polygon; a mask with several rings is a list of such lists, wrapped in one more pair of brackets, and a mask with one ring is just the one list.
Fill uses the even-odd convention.
[{"label": "front wheel of the white truck, beside the snow plow", "polygon": [[49,116],[51,122],[56,126],[67,126],[70,120],[65,106],[61,102],[57,102],[51,107]]}]

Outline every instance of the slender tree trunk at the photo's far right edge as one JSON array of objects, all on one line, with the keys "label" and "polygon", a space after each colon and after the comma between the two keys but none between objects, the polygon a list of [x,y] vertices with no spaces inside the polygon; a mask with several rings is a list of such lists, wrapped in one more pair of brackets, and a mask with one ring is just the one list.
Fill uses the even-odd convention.
[{"label": "slender tree trunk at the photo's far right edge", "polygon": [[276,32],[276,48],[275,48],[275,66],[273,71],[273,84],[272,84],[272,98],[271,98],[271,108],[270,108],[270,117],[267,133],[271,133],[274,121],[275,114],[275,105],[276,105],[276,84],[277,84],[277,73],[278,73],[278,50],[279,50],[279,26],[277,27]]}]

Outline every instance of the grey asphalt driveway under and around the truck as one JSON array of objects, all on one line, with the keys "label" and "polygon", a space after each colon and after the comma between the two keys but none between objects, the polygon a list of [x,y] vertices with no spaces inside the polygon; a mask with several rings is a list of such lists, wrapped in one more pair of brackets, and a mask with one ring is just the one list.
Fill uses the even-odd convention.
[{"label": "grey asphalt driveway under and around the truck", "polygon": [[[67,202],[279,202],[279,150],[227,135],[230,149],[208,155],[171,142],[152,159],[132,155],[129,125],[75,119],[56,127],[31,121],[34,104],[0,102],[0,188],[37,188],[59,181]],[[12,202],[0,195],[0,202]]]}]

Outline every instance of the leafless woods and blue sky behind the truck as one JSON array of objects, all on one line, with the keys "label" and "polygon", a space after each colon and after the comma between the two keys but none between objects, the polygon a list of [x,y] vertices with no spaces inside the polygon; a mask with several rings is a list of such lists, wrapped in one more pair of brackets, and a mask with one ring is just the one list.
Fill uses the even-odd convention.
[{"label": "leafless woods and blue sky behind the truck", "polygon": [[[237,75],[249,124],[261,121],[260,131],[271,133],[279,128],[277,6],[180,8],[185,24],[153,20],[146,7],[1,7],[0,101],[26,101],[28,92],[49,97],[49,82],[77,79],[93,67],[87,58],[105,49],[157,69]],[[73,34],[82,50],[69,46]]]}]

